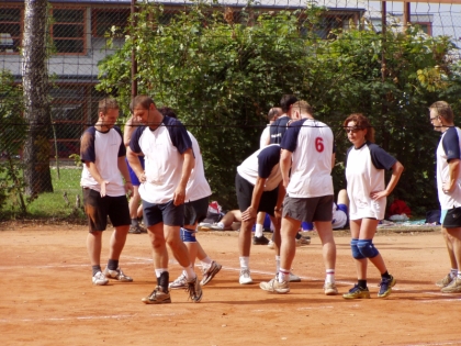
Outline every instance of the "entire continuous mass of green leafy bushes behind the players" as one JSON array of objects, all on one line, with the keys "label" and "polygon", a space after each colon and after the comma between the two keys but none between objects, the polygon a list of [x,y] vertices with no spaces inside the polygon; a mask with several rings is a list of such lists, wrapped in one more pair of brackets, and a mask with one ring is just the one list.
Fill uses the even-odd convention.
[{"label": "entire continuous mass of green leafy bushes behind the players", "polygon": [[438,138],[427,107],[440,98],[458,101],[453,45],[416,27],[383,37],[363,23],[319,40],[325,11],[258,12],[248,5],[237,20],[229,9],[198,3],[166,23],[161,5],[145,3],[125,45],[100,64],[98,88],[127,108],[135,48],[139,93],[177,110],[198,137],[212,189],[226,208],[236,204],[235,167],[257,149],[263,115],[283,93],[307,100],[334,129],[336,189],[345,185],[341,161],[350,146],[342,121],[362,112],[376,127],[376,143],[406,167],[396,193],[416,212],[437,208]]}]

